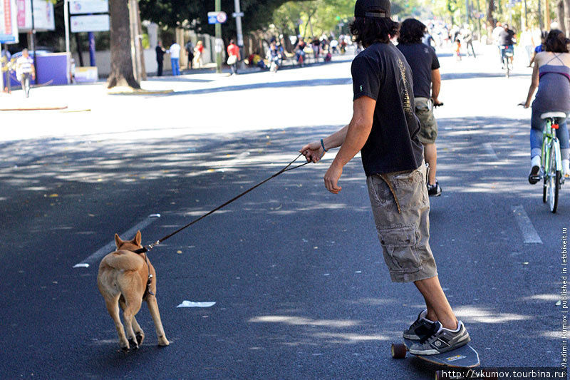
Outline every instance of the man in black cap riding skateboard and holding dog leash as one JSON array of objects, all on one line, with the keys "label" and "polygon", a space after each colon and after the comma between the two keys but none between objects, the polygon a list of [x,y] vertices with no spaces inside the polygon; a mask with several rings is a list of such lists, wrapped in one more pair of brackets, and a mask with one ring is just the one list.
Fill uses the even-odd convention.
[{"label": "man in black cap riding skateboard and holding dog leash", "polygon": [[442,290],[429,238],[427,195],[420,124],[414,110],[410,66],[390,38],[399,24],[390,19],[389,0],[357,0],[351,32],[366,49],[354,58],[351,123],[301,148],[317,162],[330,148],[341,147],[324,182],[338,194],[343,166],[361,151],[378,237],[393,282],[413,282],[427,308],[404,332],[417,343],[410,353],[451,351],[470,342]]}]

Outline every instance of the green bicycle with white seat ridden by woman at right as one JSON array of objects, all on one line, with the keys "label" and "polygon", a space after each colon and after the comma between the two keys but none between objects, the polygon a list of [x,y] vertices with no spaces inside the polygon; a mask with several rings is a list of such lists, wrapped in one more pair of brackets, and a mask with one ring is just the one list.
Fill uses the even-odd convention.
[{"label": "green bicycle with white seat ridden by woman at right", "polygon": [[542,202],[548,203],[550,211],[556,212],[558,193],[564,183],[560,142],[556,138],[558,123],[566,119],[564,112],[546,112],[540,115],[546,122],[542,131],[540,178],[543,180]]}]

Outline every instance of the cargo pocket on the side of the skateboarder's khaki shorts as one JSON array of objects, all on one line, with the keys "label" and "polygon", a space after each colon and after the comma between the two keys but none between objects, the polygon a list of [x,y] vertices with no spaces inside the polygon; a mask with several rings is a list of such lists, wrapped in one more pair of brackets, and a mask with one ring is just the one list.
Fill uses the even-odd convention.
[{"label": "cargo pocket on the side of the skateboarder's khaki shorts", "polygon": [[414,250],[418,242],[415,225],[378,229],[378,237],[390,272],[414,273],[420,270],[420,257]]}]

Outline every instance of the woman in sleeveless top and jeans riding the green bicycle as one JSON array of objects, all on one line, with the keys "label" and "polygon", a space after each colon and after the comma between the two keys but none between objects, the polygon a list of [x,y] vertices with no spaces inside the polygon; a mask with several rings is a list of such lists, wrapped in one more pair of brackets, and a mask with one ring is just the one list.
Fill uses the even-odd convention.
[{"label": "woman in sleeveless top and jeans riding the green bicycle", "polygon": [[[529,88],[527,101],[520,103],[529,108],[534,91],[538,88],[537,96],[532,102],[530,155],[531,170],[529,183],[539,181],[540,155],[542,146],[542,130],[544,121],[541,113],[564,112],[570,115],[570,53],[568,44],[570,39],[558,29],[551,30],[544,43],[545,51],[537,53],[534,57],[532,82]],[[570,178],[570,145],[566,120],[559,123],[556,136],[560,141],[562,155],[562,170],[566,178]]]}]

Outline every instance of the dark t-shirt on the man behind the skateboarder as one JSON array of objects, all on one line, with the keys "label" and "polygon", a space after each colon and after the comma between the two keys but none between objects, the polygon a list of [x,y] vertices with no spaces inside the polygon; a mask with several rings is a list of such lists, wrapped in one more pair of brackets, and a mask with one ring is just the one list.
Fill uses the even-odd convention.
[{"label": "dark t-shirt on the man behind the skateboarder", "polygon": [[398,43],[398,49],[412,68],[415,98],[430,98],[432,70],[440,68],[440,61],[437,60],[435,50],[431,46],[426,46],[425,43],[412,43],[410,45]]}]

